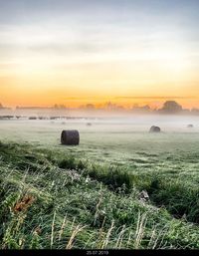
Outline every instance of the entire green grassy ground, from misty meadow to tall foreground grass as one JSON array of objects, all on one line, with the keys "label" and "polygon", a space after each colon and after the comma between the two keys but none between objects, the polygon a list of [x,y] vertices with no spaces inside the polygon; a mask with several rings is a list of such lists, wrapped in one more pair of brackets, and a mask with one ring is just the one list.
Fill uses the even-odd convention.
[{"label": "entire green grassy ground, from misty meadow to tall foreground grass", "polygon": [[87,122],[0,121],[1,248],[198,249],[199,120]]}]

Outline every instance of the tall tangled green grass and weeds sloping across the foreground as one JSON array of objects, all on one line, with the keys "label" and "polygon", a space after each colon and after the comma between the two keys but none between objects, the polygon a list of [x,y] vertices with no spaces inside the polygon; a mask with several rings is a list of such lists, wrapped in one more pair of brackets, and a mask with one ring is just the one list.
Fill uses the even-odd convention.
[{"label": "tall tangled green grass and weeds sloping across the foreground", "polygon": [[0,143],[0,183],[2,249],[199,248],[197,178]]}]

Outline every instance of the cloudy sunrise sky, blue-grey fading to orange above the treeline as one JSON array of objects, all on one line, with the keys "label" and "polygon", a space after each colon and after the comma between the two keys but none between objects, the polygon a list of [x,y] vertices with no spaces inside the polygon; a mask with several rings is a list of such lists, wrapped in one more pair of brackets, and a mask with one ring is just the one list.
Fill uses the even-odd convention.
[{"label": "cloudy sunrise sky, blue-grey fading to orange above the treeline", "polygon": [[0,0],[0,103],[199,108],[198,0]]}]

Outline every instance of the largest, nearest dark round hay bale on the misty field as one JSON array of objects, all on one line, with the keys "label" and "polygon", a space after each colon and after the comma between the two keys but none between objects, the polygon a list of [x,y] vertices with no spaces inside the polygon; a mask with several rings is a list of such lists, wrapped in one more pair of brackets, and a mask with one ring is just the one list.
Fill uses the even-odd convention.
[{"label": "largest, nearest dark round hay bale on the misty field", "polygon": [[62,144],[79,144],[80,134],[77,129],[64,129],[61,134]]}]

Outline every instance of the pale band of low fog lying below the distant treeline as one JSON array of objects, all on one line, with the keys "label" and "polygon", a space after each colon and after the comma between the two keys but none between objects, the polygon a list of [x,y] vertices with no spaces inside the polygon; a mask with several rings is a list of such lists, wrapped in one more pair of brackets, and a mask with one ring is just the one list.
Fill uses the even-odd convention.
[{"label": "pale band of low fog lying below the distant treeline", "polygon": [[[190,126],[191,125],[191,126]],[[135,115],[90,112],[0,112],[0,129],[43,128],[48,131],[62,128],[78,128],[80,131],[147,132],[158,126],[161,132],[199,132],[198,116],[179,115]]]}]

